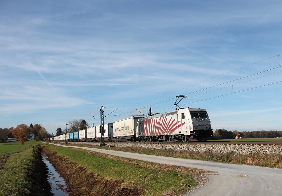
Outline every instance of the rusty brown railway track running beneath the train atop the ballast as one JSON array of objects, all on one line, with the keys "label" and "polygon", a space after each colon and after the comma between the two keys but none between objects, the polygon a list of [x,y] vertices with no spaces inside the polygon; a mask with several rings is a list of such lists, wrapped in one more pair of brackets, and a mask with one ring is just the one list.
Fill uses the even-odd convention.
[{"label": "rusty brown railway track running beneath the train atop the ballast", "polygon": [[[90,143],[90,142],[85,142]],[[93,142],[93,143],[100,143],[100,142]],[[105,143],[129,143],[129,142],[109,142],[105,141]],[[132,142],[132,143],[148,143],[148,144],[183,144],[183,145],[190,145],[190,144],[224,144],[224,145],[282,145],[282,141],[201,141],[201,142]]]}]

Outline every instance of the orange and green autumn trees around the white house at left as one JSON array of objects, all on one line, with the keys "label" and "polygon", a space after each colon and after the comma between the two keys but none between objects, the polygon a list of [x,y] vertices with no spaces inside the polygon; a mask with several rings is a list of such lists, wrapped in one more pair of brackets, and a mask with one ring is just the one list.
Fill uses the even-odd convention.
[{"label": "orange and green autumn trees around the white house at left", "polygon": [[[43,139],[43,138],[49,138],[51,137],[51,134],[47,132],[47,130],[41,125],[41,124],[35,124],[33,125],[32,123],[28,126],[26,124],[21,124],[17,125],[16,128],[11,127],[11,128],[0,128],[0,141],[5,141],[8,139],[8,134],[11,134],[15,138],[21,138],[23,141],[24,138],[28,135],[28,132],[31,131],[34,136],[38,139]],[[24,140],[25,141],[25,140]]]}]

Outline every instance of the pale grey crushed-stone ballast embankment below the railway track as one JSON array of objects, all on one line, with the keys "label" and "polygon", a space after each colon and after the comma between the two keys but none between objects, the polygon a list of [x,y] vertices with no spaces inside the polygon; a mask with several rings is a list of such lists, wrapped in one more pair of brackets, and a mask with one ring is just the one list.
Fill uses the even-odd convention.
[{"label": "pale grey crushed-stone ballast embankment below the railway track", "polygon": [[[68,142],[69,144],[85,144],[85,142]],[[99,143],[86,142],[86,144],[98,146]],[[226,153],[234,151],[238,154],[282,154],[282,145],[234,145],[234,144],[148,144],[148,143],[119,143],[119,142],[106,142],[106,145],[114,147],[136,147],[136,148],[155,148],[165,150],[180,150],[192,152],[205,152],[207,150],[215,153]]]}]

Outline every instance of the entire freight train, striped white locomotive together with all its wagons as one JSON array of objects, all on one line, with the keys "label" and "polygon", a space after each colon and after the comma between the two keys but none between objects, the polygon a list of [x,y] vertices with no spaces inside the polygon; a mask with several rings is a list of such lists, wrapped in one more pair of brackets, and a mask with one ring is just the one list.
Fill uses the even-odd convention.
[{"label": "entire freight train, striped white locomotive together with all its wagons", "polygon": [[[182,108],[148,117],[131,117],[104,125],[108,141],[201,141],[213,130],[205,109]],[[100,125],[49,138],[50,141],[100,141]]]}]

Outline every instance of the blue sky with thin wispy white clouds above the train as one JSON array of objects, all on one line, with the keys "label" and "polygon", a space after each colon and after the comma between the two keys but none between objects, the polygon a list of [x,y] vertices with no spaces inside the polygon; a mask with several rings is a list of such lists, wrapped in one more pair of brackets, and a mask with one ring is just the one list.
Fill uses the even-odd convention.
[{"label": "blue sky with thin wispy white clouds above the train", "polygon": [[281,7],[1,1],[0,127],[39,123],[52,134],[75,119],[99,125],[102,105],[105,115],[119,108],[112,123],[135,108],[174,111],[188,95],[182,107],[207,109],[214,130],[281,130]]}]

